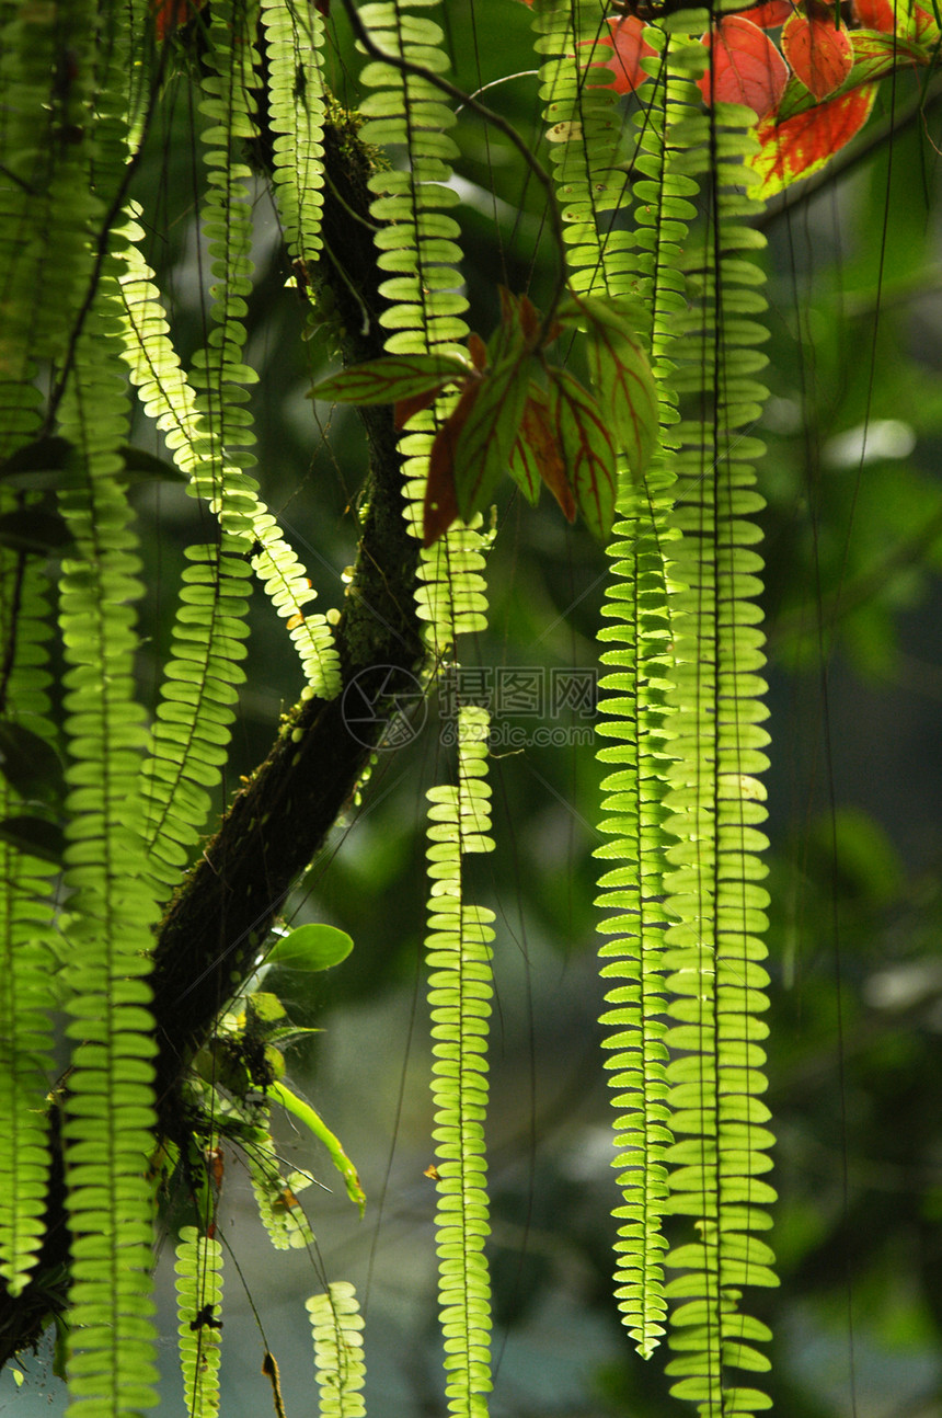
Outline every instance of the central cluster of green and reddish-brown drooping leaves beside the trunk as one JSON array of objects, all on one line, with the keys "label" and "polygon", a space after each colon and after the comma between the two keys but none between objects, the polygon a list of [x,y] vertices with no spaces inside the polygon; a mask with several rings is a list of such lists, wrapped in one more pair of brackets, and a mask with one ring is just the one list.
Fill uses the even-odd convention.
[{"label": "central cluster of green and reddish-brown drooping leaves beside the trunk", "polygon": [[[312,396],[350,404],[394,404],[401,428],[450,386],[458,401],[429,455],[422,537],[431,546],[456,518],[486,510],[504,474],[528,502],[545,484],[569,522],[581,515],[599,540],[615,516],[618,452],[640,476],[657,430],[657,396],[633,333],[633,309],[569,292],[552,320],[526,295],[500,291],[501,320],[487,343],[467,340],[467,359],[399,354],[323,380]],[[565,330],[582,330],[594,393],[547,360]]]}]

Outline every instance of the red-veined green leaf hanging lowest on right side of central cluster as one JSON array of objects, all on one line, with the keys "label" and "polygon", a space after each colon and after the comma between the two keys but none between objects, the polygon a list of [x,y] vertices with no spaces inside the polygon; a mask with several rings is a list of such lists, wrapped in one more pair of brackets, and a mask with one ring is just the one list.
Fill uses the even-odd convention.
[{"label": "red-veined green leaf hanging lowest on right side of central cluster", "polygon": [[594,537],[606,542],[615,518],[618,472],[608,417],[565,369],[551,369],[550,408],[577,510]]}]

